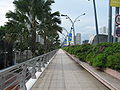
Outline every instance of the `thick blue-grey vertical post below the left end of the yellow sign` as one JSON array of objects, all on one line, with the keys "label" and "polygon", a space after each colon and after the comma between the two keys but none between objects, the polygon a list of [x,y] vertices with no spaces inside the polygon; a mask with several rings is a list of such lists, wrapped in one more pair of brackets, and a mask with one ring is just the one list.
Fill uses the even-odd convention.
[{"label": "thick blue-grey vertical post below the left end of the yellow sign", "polygon": [[109,0],[108,42],[112,42],[112,7]]}]

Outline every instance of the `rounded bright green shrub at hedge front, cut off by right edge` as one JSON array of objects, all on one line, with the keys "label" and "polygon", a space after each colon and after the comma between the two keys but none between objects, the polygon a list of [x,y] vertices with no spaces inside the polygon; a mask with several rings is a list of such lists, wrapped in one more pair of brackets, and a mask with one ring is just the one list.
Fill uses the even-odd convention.
[{"label": "rounded bright green shrub at hedge front, cut off by right edge", "polygon": [[120,70],[120,53],[114,53],[107,57],[106,66],[112,69]]}]

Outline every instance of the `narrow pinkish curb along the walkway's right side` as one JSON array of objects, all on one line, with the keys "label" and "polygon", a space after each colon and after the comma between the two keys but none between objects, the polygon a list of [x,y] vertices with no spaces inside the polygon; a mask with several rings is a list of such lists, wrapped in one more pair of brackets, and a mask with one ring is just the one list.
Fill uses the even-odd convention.
[{"label": "narrow pinkish curb along the walkway's right side", "polygon": [[[63,50],[64,51],[64,50]],[[92,76],[94,76],[96,79],[98,79],[101,83],[103,83],[106,87],[108,87],[110,90],[118,90],[116,87],[111,85],[107,80],[102,78],[100,75],[98,75],[96,72],[94,72],[92,69],[88,68],[87,65],[85,65],[84,62],[80,61],[78,58],[74,57],[73,55],[69,54],[68,52],[64,51],[71,59],[79,63],[85,70],[87,70]]]}]

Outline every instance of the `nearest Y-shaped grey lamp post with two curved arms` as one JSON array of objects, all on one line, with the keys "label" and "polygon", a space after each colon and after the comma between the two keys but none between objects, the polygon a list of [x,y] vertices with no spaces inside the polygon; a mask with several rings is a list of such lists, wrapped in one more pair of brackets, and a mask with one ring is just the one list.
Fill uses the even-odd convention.
[{"label": "nearest Y-shaped grey lamp post with two curved arms", "polygon": [[76,45],[76,38],[75,38],[75,22],[78,20],[78,18],[79,18],[80,16],[83,16],[83,15],[85,15],[85,13],[83,13],[82,15],[79,15],[78,17],[76,17],[76,19],[75,19],[74,21],[73,21],[68,15],[64,15],[64,14],[61,15],[61,16],[65,16],[66,19],[69,19],[70,22],[71,22],[71,24],[72,24],[71,29],[73,30],[74,45]]}]

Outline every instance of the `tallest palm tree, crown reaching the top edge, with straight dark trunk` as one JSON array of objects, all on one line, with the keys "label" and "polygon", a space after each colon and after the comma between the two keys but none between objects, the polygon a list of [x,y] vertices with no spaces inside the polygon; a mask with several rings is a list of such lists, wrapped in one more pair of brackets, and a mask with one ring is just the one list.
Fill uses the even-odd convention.
[{"label": "tallest palm tree, crown reaching the top edge, with straight dark trunk", "polygon": [[44,19],[43,13],[46,8],[49,10],[49,6],[53,3],[52,0],[15,0],[14,4],[16,9],[26,15],[27,23],[30,26],[31,32],[31,50],[33,56],[35,56],[36,50],[36,30],[38,25],[41,24],[41,20]]}]

